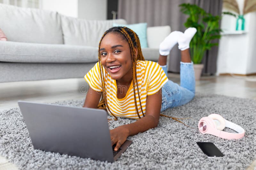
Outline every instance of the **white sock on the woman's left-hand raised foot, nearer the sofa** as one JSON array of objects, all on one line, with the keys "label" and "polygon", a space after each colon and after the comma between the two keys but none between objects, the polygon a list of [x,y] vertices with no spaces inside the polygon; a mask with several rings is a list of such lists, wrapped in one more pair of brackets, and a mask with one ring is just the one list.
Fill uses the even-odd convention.
[{"label": "white sock on the woman's left-hand raised foot, nearer the sofa", "polygon": [[171,49],[175,44],[177,44],[179,37],[183,34],[180,31],[173,31],[167,37],[165,37],[164,41],[161,42],[159,46],[159,53],[161,55],[169,55]]}]

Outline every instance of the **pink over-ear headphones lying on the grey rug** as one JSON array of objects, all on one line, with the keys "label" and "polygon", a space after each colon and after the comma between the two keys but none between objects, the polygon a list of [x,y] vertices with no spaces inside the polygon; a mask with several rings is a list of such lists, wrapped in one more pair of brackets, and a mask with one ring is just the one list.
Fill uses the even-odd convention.
[{"label": "pink over-ear headphones lying on the grey rug", "polygon": [[[238,133],[222,131],[225,127],[233,129]],[[207,133],[224,139],[239,139],[244,137],[244,129],[241,126],[229,122],[218,114],[202,117],[198,122],[198,129],[203,134]]]}]

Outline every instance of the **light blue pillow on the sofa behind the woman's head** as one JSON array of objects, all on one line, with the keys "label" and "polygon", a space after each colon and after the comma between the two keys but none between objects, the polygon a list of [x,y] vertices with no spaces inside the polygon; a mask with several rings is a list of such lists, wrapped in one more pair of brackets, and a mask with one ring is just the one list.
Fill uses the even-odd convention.
[{"label": "light blue pillow on the sofa behind the woman's head", "polygon": [[127,28],[132,29],[139,36],[141,48],[147,48],[148,47],[148,43],[147,43],[147,23],[130,24],[130,25],[113,23],[113,26],[125,26]]}]

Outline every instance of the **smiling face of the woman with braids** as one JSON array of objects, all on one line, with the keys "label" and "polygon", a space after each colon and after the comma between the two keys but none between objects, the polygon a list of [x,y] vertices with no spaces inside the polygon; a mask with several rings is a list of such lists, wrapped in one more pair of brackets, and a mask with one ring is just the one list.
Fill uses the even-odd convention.
[{"label": "smiling face of the woman with braids", "polygon": [[[135,48],[137,56],[137,48]],[[114,80],[131,81],[132,57],[129,43],[119,33],[110,32],[100,43],[102,66]]]}]

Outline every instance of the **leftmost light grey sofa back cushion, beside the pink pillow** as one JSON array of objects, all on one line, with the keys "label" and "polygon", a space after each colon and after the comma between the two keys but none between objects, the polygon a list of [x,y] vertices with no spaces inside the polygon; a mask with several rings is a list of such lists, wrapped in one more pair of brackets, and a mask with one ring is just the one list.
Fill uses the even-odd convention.
[{"label": "leftmost light grey sofa back cushion, beside the pink pillow", "polygon": [[9,41],[63,44],[57,12],[0,4],[0,28]]}]

